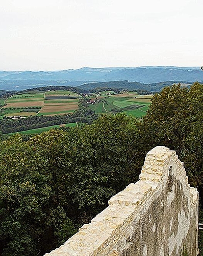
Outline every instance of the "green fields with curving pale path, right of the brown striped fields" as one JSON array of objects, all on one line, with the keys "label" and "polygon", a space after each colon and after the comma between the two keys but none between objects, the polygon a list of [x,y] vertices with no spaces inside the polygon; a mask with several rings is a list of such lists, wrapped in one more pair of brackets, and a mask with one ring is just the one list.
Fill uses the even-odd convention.
[{"label": "green fields with curving pale path, right of the brown striped fields", "polygon": [[119,94],[104,91],[95,95],[87,95],[86,98],[96,101],[95,104],[89,104],[89,107],[98,115],[114,115],[117,112],[125,112],[127,115],[142,118],[146,114],[152,96],[128,91]]}]

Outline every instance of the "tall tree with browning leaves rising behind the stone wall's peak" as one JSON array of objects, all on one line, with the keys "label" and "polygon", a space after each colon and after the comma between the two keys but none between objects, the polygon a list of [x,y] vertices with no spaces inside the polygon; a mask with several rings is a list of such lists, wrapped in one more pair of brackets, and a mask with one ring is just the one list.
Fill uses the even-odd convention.
[{"label": "tall tree with browning leaves rising behind the stone wall's peak", "polygon": [[[166,87],[153,97],[140,123],[140,153],[157,145],[175,150],[184,162],[190,184],[198,187],[203,199],[203,86],[195,82],[190,89]],[[203,202],[202,202],[203,203]]]}]

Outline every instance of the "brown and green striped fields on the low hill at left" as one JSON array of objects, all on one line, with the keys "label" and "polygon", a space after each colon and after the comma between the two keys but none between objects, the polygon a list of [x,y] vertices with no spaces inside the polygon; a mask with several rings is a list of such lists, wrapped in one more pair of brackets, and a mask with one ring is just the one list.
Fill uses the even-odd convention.
[{"label": "brown and green striped fields on the low hill at left", "polygon": [[[62,115],[78,109],[82,96],[70,91],[47,91],[42,93],[15,94],[5,100],[0,119],[6,117],[28,117],[35,115]],[[2,105],[4,102],[1,102]]]}]

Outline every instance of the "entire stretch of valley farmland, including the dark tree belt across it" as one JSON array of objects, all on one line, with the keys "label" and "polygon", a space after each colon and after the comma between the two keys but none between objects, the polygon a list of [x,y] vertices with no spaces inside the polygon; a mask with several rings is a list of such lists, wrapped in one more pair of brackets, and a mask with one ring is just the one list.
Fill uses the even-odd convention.
[{"label": "entire stretch of valley farmland, including the dark tree belt across it", "polygon": [[63,90],[19,93],[8,97],[0,108],[1,132],[11,134],[73,122],[90,124],[102,114],[115,115],[118,112],[141,119],[146,114],[151,97],[128,91],[103,91],[83,96]]}]

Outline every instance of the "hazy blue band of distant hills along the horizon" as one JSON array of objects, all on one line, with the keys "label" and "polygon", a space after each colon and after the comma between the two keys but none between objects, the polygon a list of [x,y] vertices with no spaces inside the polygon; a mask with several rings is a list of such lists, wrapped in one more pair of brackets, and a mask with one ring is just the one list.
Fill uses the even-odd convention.
[{"label": "hazy blue band of distant hills along the horizon", "polygon": [[80,86],[116,80],[140,83],[203,81],[199,67],[81,68],[61,71],[0,71],[0,89],[20,91],[41,86]]}]

